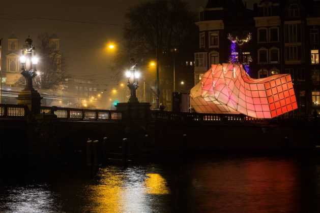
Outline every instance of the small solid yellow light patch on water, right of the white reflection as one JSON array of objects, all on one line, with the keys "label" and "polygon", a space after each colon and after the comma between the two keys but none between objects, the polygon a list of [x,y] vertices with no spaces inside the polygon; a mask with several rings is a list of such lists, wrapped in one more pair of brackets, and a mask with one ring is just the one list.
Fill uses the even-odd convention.
[{"label": "small solid yellow light patch on water, right of the white reflection", "polygon": [[145,180],[148,194],[169,194],[166,180],[160,174],[148,173]]}]

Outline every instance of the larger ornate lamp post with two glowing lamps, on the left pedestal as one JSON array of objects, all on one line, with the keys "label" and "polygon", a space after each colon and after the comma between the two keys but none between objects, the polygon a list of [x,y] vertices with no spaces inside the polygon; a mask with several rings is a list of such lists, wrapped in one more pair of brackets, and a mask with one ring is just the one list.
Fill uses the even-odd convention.
[{"label": "larger ornate lamp post with two glowing lamps, on the left pedestal", "polygon": [[35,50],[35,46],[32,45],[32,39],[28,37],[25,40],[22,55],[20,56],[22,65],[21,74],[25,78],[25,88],[18,94],[17,99],[18,104],[27,105],[32,113],[39,114],[42,97],[40,97],[39,92],[32,85],[33,78],[37,76],[35,65],[38,63],[33,50]]}]

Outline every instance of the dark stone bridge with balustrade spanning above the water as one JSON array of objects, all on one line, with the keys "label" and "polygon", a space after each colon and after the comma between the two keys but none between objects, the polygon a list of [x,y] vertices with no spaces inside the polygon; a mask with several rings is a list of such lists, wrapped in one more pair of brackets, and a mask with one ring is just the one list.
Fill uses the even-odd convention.
[{"label": "dark stone bridge with balustrade spanning above the water", "polygon": [[[42,107],[31,115],[25,105],[0,104],[1,156],[38,164],[85,161],[86,141],[106,138],[110,152],[174,150],[310,149],[319,123],[285,116],[255,119],[243,115],[151,111],[148,103],[120,103],[117,111]],[[100,146],[100,145],[99,145]],[[32,157],[30,157],[32,156]],[[4,162],[4,160],[2,160]]]}]

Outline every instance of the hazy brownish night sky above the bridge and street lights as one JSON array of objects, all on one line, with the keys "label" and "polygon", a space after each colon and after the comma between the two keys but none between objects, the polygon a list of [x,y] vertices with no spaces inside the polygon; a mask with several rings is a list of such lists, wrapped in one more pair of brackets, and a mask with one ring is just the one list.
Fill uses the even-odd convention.
[{"label": "hazy brownish night sky above the bridge and street lights", "polygon": [[[55,32],[73,76],[88,76],[97,84],[109,84],[106,81],[110,81],[108,77],[112,76],[112,70],[108,70],[108,65],[112,63],[114,52],[107,51],[106,45],[121,41],[126,11],[145,1],[0,0],[0,38],[7,44],[13,31],[22,48],[28,35],[35,43],[38,33]],[[197,12],[207,0],[187,2],[190,9]]]}]

